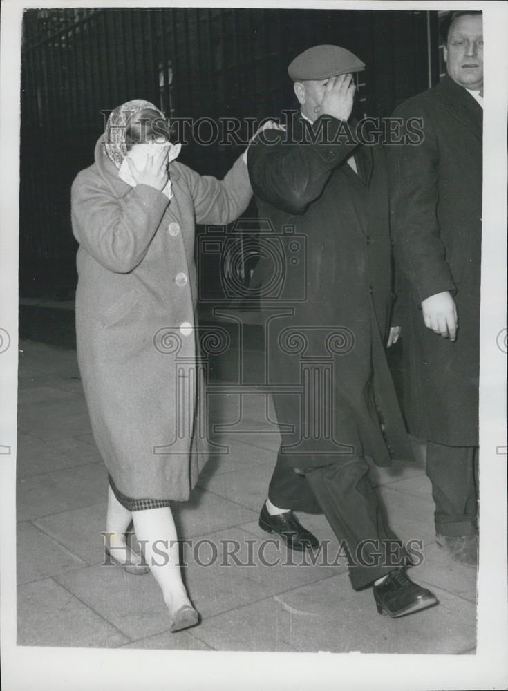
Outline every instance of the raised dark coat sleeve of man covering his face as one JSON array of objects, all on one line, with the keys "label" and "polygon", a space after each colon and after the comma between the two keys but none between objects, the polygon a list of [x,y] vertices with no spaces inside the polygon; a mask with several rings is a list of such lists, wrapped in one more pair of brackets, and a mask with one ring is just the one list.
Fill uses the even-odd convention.
[{"label": "raised dark coat sleeve of man covering his face", "polygon": [[[341,131],[344,139],[344,128],[348,136],[339,143],[337,134]],[[256,197],[290,214],[303,214],[319,197],[332,170],[358,142],[343,120],[330,115],[317,118],[314,132],[314,142],[285,141],[285,133],[276,129],[266,129],[262,138],[254,139],[247,162]]]}]

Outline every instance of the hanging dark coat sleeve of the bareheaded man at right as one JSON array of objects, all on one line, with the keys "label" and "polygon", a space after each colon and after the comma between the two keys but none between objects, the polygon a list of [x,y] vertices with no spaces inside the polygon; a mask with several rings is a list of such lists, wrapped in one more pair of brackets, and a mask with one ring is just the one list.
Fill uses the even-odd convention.
[{"label": "hanging dark coat sleeve of the bareheaded man at right", "polygon": [[[449,290],[455,294],[450,267],[440,238],[439,142],[429,113],[413,101],[406,102],[393,117],[421,117],[423,138],[418,144],[387,146],[391,178],[391,232],[393,254],[399,270],[408,279],[417,303]],[[403,129],[404,131],[404,129]]]}]

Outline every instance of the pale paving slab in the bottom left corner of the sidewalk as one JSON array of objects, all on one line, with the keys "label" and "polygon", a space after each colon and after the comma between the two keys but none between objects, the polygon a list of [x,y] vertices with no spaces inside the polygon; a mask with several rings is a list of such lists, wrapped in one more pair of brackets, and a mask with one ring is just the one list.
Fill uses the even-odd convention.
[{"label": "pale paving slab in the bottom left corner of the sidewalk", "polygon": [[118,647],[129,638],[51,578],[17,591],[17,644]]}]

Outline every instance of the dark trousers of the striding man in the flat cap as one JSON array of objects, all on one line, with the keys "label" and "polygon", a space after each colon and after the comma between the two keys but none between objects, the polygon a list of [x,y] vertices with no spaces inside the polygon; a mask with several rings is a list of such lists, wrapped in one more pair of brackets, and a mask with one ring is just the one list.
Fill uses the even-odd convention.
[{"label": "dark trousers of the striding man in the flat cap", "polygon": [[334,457],[327,465],[305,468],[303,478],[279,455],[268,496],[283,509],[309,511],[305,507],[319,507],[341,547],[344,543],[347,547],[349,577],[355,590],[404,562],[406,551],[384,521],[368,464],[362,457]]}]

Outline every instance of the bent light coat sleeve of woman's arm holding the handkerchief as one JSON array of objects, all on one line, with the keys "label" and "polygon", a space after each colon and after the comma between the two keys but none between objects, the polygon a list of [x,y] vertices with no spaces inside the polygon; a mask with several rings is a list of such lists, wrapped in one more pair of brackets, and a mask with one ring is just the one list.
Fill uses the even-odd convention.
[{"label": "bent light coat sleeve of woman's arm holding the handkerchief", "polygon": [[147,254],[168,202],[147,184],[120,200],[99,176],[82,171],[71,189],[74,236],[106,269],[128,274]]}]

